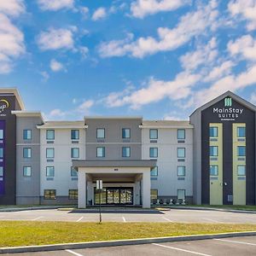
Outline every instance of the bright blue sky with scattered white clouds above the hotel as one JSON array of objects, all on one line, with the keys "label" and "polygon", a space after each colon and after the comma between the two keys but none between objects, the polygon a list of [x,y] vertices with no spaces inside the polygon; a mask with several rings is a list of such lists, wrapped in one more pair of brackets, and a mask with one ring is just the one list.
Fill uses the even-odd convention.
[{"label": "bright blue sky with scattered white clouds above the hotel", "polygon": [[46,120],[256,104],[256,0],[0,0],[0,87]]}]

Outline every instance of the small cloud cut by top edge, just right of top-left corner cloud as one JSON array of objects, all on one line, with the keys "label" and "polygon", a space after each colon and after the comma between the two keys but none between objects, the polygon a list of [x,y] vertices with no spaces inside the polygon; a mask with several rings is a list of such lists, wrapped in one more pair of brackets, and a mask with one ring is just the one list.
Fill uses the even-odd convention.
[{"label": "small cloud cut by top edge, just right of top-left corner cloud", "polygon": [[38,0],[40,9],[51,11],[73,9],[73,4],[74,0]]}]

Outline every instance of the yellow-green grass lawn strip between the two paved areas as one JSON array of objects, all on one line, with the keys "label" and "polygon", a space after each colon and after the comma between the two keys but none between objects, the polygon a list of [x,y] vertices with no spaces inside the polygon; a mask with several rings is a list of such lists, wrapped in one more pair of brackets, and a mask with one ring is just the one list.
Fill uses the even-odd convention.
[{"label": "yellow-green grass lawn strip between the two paved areas", "polygon": [[252,224],[69,223],[1,221],[0,247],[80,241],[108,241],[154,236],[183,236],[256,231]]}]

